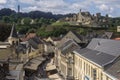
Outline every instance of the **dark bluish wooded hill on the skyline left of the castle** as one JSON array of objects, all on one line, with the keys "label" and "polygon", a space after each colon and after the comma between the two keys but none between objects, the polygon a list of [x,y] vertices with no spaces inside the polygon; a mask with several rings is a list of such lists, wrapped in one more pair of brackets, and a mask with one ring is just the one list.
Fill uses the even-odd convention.
[{"label": "dark bluish wooded hill on the skyline left of the castle", "polygon": [[32,19],[36,19],[36,18],[48,18],[48,19],[55,19],[58,20],[60,18],[63,17],[67,17],[67,16],[72,16],[72,14],[66,14],[66,15],[62,15],[62,14],[52,14],[51,12],[43,12],[43,11],[31,11],[28,13],[17,13],[14,10],[11,10],[9,8],[3,8],[0,10],[0,19],[2,19],[3,16],[11,16],[11,15],[16,15],[19,14],[19,17],[24,18],[24,17],[30,17]]}]

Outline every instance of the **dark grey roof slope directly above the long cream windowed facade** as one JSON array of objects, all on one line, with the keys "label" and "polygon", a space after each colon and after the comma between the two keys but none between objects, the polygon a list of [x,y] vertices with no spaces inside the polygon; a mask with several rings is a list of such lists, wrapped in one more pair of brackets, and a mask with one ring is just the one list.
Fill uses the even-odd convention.
[{"label": "dark grey roof slope directly above the long cream windowed facade", "polygon": [[100,66],[104,66],[107,63],[109,63],[110,61],[115,59],[115,56],[112,56],[112,55],[109,55],[109,54],[106,54],[103,52],[99,52],[96,50],[91,50],[88,48],[76,50],[76,52],[81,54],[85,58],[97,63]]}]

